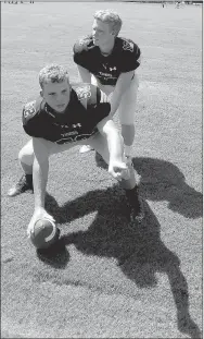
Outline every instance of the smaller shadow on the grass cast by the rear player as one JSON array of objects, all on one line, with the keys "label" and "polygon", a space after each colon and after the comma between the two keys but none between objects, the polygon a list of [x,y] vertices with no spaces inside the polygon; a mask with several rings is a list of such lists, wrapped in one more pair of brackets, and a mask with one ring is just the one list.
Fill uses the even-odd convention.
[{"label": "smaller shadow on the grass cast by the rear player", "polygon": [[[97,166],[107,165],[95,153]],[[149,201],[167,201],[168,208],[186,218],[203,216],[203,195],[189,186],[183,173],[169,161],[154,158],[132,158],[133,168],[140,175],[140,194]]]}]

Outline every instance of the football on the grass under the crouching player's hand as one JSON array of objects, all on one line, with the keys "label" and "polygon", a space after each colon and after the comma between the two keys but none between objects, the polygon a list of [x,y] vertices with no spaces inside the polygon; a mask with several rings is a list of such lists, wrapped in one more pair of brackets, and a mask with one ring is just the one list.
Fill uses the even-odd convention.
[{"label": "football on the grass under the crouching player's hand", "polygon": [[30,241],[38,250],[48,249],[56,243],[59,238],[59,228],[48,219],[37,220],[34,226],[34,232],[30,234]]}]

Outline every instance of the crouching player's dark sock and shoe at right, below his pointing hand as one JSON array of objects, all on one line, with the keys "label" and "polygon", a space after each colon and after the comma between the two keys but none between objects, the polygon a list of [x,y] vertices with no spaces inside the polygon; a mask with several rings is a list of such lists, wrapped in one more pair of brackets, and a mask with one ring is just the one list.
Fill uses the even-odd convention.
[{"label": "crouching player's dark sock and shoe at right, below his pointing hand", "polygon": [[138,195],[138,186],[126,190],[126,197],[130,206],[130,222],[141,222],[144,218],[143,204]]}]

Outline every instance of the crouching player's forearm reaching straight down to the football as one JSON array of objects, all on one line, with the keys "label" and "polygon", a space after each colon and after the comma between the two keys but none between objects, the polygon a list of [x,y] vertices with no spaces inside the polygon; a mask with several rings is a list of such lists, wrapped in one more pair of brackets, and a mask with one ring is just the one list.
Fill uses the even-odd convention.
[{"label": "crouching player's forearm reaching straight down to the football", "polygon": [[44,159],[43,162],[39,162],[35,157],[33,168],[33,182],[35,194],[35,209],[44,208],[46,187],[48,182],[48,169],[49,161]]}]

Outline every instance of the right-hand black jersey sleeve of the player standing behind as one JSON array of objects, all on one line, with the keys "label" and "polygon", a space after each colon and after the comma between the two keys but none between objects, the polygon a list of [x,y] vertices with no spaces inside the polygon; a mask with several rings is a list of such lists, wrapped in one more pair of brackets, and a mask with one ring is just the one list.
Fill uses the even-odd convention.
[{"label": "right-hand black jersey sleeve of the player standing behind", "polygon": [[141,62],[141,50],[131,40],[123,40],[120,71],[130,72],[139,68]]}]

